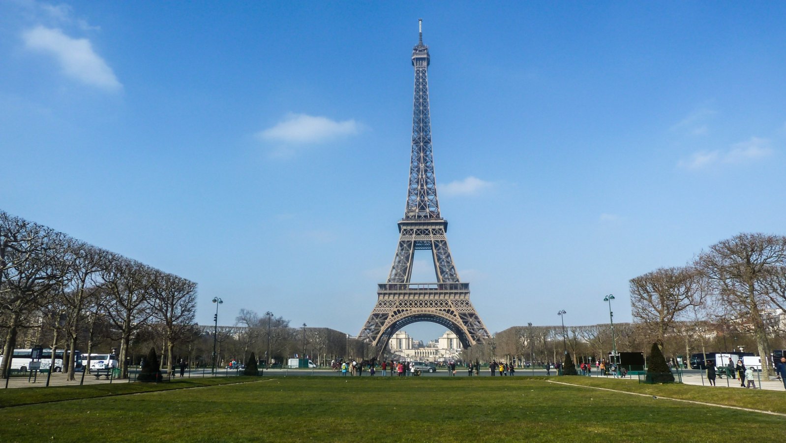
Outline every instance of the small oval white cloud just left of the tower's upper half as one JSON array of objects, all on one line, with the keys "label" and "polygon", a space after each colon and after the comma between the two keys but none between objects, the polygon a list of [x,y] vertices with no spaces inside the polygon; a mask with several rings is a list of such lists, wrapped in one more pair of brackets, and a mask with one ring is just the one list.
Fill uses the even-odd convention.
[{"label": "small oval white cloud just left of the tower's upper half", "polygon": [[319,143],[344,135],[355,135],[360,124],[355,120],[336,121],[323,116],[289,113],[274,127],[259,131],[256,136],[270,142]]}]

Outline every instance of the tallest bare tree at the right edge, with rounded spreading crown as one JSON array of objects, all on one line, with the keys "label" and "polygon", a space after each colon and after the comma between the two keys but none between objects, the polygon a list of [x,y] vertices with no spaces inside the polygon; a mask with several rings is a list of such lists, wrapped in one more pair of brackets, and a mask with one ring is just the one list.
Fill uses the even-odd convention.
[{"label": "tallest bare tree at the right edge, with rounded spreading crown", "polygon": [[749,324],[762,356],[762,376],[769,377],[769,356],[764,311],[772,297],[766,284],[773,269],[786,264],[786,237],[767,234],[737,234],[722,240],[696,260],[714,286],[718,298],[736,315],[736,321]]}]

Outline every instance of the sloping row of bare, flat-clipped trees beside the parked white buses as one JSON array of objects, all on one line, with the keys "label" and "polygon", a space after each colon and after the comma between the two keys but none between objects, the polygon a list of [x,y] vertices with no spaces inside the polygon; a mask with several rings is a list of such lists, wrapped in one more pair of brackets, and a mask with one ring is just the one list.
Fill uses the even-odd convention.
[{"label": "sloping row of bare, flat-clipped trees beside the parked white buses", "polygon": [[[0,211],[4,356],[17,347],[20,331],[51,327],[52,348],[60,344],[57,331],[64,333],[70,351],[64,371],[73,379],[80,338],[86,337],[87,353],[97,334],[119,341],[119,360],[125,362],[130,342],[154,323],[170,362],[175,343],[193,333],[195,312],[195,282]],[[9,358],[2,360],[3,378],[9,364]]]}]

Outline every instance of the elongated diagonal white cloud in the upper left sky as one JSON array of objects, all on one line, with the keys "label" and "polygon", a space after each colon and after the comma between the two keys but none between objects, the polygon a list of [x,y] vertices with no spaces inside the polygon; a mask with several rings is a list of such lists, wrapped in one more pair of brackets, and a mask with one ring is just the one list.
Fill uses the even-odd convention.
[{"label": "elongated diagonal white cloud in the upper left sky", "polygon": [[112,68],[94,52],[88,39],[72,39],[60,29],[43,26],[24,31],[22,39],[28,49],[55,57],[66,76],[105,90],[123,88]]}]

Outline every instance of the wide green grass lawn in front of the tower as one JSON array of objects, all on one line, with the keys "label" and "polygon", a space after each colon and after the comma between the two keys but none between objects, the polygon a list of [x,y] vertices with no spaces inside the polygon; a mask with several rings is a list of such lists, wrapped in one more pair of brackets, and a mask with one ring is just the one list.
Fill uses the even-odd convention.
[{"label": "wide green grass lawn in front of the tower", "polygon": [[[786,423],[783,416],[563,386],[543,378],[262,380],[2,408],[0,440],[706,442],[776,435]],[[637,384],[613,387],[619,386]],[[670,389],[670,394],[653,391],[669,397],[692,387],[649,386]],[[749,395],[744,389],[724,390],[716,394],[719,400]]]}]

